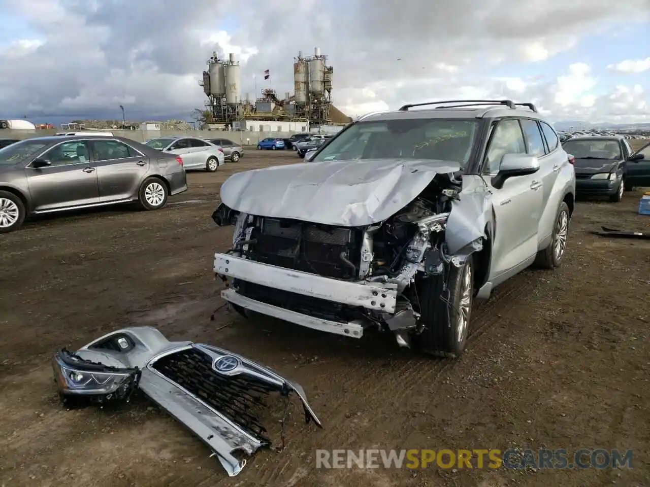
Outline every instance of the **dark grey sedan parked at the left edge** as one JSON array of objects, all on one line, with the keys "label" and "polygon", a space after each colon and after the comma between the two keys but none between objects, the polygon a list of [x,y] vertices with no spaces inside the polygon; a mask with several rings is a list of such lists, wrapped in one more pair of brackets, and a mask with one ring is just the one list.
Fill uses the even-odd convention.
[{"label": "dark grey sedan parked at the left edge", "polygon": [[0,149],[0,233],[31,214],[114,203],[162,208],[187,190],[180,156],[112,136],[38,137]]}]

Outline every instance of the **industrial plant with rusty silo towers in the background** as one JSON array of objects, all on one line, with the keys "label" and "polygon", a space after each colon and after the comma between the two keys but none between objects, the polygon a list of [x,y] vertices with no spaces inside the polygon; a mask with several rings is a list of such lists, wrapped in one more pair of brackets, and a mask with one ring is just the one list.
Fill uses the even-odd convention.
[{"label": "industrial plant with rusty silo towers in the background", "polygon": [[213,124],[218,128],[275,131],[275,127],[284,127],[282,131],[301,131],[305,126],[320,127],[333,123],[333,68],[327,66],[327,57],[320,54],[318,47],[313,56],[303,56],[301,51],[294,58],[294,93],[285,92],[283,96],[272,88],[262,88],[253,98],[248,94],[242,95],[240,66],[234,54],[220,59],[213,53],[207,66],[199,84],[207,96],[206,110],[212,114]]}]

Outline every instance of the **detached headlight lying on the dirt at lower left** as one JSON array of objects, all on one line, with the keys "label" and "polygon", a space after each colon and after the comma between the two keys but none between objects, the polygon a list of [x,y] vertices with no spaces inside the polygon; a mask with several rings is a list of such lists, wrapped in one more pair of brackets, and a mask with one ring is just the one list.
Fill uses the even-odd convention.
[{"label": "detached headlight lying on the dirt at lower left", "polygon": [[62,395],[98,399],[128,399],[140,381],[140,370],[90,362],[63,349],[54,357],[55,379]]}]

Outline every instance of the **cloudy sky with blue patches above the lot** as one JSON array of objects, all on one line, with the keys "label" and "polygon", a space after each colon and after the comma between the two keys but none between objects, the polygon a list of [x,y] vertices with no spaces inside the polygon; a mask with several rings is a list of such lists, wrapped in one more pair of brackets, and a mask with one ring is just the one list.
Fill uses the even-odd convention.
[{"label": "cloudy sky with blue patches above the lot", "polygon": [[188,119],[212,51],[237,54],[242,93],[284,94],[318,46],[350,116],[508,97],[650,122],[650,0],[0,0],[0,26],[5,119]]}]

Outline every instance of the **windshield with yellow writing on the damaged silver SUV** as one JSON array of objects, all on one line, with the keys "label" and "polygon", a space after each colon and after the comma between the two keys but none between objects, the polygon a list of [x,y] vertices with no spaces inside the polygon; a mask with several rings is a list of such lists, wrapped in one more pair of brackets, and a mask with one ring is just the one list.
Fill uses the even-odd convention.
[{"label": "windshield with yellow writing on the damaged silver SUV", "polygon": [[439,159],[467,165],[478,121],[402,119],[358,122],[323,147],[312,162],[363,159]]}]

